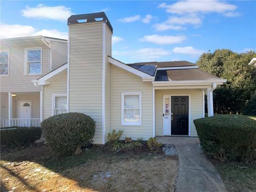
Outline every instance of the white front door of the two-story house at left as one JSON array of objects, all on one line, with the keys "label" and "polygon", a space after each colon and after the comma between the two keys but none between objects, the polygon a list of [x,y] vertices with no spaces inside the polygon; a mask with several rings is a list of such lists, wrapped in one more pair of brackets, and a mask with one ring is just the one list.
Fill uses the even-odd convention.
[{"label": "white front door of the two-story house at left", "polygon": [[19,126],[30,126],[31,119],[31,101],[19,101],[18,118]]}]

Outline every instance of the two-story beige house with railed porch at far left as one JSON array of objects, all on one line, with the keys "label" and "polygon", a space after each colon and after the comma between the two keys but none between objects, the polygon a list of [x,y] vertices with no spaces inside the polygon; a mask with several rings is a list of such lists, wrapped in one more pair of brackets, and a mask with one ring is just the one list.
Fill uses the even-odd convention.
[{"label": "two-story beige house with railed porch at far left", "polygon": [[67,63],[67,40],[32,36],[0,44],[0,126],[39,126],[42,91],[31,81]]}]

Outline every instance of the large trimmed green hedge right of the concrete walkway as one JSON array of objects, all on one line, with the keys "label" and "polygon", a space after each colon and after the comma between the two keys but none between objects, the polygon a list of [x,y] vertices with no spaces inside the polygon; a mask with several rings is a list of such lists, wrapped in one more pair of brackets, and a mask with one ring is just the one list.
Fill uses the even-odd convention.
[{"label": "large trimmed green hedge right of the concrete walkway", "polygon": [[256,149],[256,121],[242,115],[217,115],[194,120],[206,154],[221,162],[252,161]]}]

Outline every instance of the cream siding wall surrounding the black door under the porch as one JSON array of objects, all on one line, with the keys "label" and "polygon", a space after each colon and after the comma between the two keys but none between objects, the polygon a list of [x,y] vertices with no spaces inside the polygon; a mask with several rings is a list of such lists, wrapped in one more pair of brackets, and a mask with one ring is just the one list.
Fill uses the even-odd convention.
[{"label": "cream siding wall surrounding the black door under the porch", "polygon": [[201,89],[155,90],[155,130],[156,136],[163,135],[163,95],[190,95],[190,135],[197,137],[194,119],[203,117],[203,93]]}]

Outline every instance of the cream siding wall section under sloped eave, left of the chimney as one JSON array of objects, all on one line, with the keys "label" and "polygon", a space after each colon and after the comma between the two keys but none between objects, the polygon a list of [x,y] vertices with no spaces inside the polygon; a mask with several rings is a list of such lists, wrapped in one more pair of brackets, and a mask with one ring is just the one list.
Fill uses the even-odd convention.
[{"label": "cream siding wall section under sloped eave, left of the chimney", "polygon": [[67,94],[67,74],[44,86],[43,119],[52,116],[52,94]]}]

